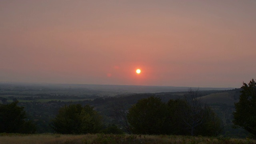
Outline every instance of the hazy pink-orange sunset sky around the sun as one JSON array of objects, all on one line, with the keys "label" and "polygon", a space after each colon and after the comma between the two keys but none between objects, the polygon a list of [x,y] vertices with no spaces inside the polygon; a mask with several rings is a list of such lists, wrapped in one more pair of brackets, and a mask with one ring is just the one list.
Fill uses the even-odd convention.
[{"label": "hazy pink-orange sunset sky around the sun", "polygon": [[0,82],[239,88],[255,56],[256,0],[0,0]]}]

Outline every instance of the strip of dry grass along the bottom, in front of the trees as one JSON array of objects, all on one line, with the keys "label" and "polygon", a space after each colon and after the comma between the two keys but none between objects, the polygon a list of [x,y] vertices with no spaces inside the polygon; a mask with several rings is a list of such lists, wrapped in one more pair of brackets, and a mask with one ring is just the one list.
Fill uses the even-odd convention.
[{"label": "strip of dry grass along the bottom, in front of the trees", "polygon": [[114,134],[0,134],[1,144],[256,144],[256,140],[202,136]]}]

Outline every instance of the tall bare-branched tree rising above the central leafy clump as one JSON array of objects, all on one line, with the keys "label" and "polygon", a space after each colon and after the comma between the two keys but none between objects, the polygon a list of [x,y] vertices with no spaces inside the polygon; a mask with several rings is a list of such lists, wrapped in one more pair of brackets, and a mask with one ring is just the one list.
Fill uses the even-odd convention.
[{"label": "tall bare-branched tree rising above the central leafy clump", "polygon": [[183,110],[183,121],[190,127],[192,136],[194,135],[195,128],[204,122],[206,113],[200,96],[201,93],[199,89],[193,90],[192,88],[189,88],[188,94],[184,95],[184,100],[187,102],[188,107]]}]

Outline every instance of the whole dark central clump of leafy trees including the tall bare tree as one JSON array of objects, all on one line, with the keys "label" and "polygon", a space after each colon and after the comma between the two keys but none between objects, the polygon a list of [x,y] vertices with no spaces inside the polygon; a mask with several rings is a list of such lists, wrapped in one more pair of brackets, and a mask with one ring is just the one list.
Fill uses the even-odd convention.
[{"label": "whole dark central clump of leafy trees including the tall bare tree", "polygon": [[167,104],[153,96],[139,100],[128,112],[132,132],[217,136],[222,122],[209,106],[195,99],[197,93],[190,91],[190,98],[169,100]]}]

